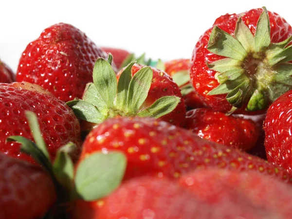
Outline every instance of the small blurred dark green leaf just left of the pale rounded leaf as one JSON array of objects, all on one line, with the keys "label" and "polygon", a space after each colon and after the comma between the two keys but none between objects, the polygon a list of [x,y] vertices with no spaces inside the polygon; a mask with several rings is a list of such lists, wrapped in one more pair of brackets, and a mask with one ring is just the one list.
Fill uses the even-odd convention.
[{"label": "small blurred dark green leaf just left of the pale rounded leaf", "polygon": [[74,164],[69,156],[76,149],[74,143],[70,142],[62,146],[58,151],[53,164],[53,171],[57,181],[69,191],[73,189]]}]

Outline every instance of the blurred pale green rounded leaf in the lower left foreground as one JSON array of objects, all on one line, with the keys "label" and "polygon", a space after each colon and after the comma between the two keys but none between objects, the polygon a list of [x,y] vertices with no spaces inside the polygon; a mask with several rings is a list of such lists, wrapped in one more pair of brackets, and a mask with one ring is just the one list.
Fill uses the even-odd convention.
[{"label": "blurred pale green rounded leaf in the lower left foreground", "polygon": [[124,177],[127,158],[121,152],[95,152],[77,167],[75,188],[85,201],[93,201],[110,194]]}]

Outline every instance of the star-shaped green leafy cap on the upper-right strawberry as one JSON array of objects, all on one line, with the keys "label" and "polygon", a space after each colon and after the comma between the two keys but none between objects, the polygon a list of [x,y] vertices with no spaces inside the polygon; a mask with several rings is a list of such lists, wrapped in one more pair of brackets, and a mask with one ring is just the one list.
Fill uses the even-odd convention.
[{"label": "star-shaped green leafy cap on the upper-right strawberry", "polygon": [[263,110],[270,102],[292,89],[292,46],[289,37],[280,43],[271,43],[268,11],[263,7],[255,36],[238,18],[234,36],[215,26],[207,49],[225,56],[208,68],[217,71],[219,86],[208,95],[226,94],[232,110]]}]

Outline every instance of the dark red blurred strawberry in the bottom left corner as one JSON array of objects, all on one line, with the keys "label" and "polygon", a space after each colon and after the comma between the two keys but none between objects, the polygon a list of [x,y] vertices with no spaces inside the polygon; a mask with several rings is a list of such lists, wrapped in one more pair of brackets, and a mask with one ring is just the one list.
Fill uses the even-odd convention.
[{"label": "dark red blurred strawberry in the bottom left corner", "polygon": [[37,166],[0,153],[0,172],[1,219],[41,218],[55,202],[54,184]]}]

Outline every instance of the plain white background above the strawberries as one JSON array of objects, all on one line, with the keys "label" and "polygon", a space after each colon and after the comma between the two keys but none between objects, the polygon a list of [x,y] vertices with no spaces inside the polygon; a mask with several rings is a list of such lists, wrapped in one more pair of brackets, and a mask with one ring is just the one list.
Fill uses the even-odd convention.
[{"label": "plain white background above the strawberries", "polygon": [[190,58],[201,34],[220,15],[266,6],[292,24],[280,0],[0,0],[0,58],[14,71],[42,30],[71,23],[97,45],[163,60]]}]

